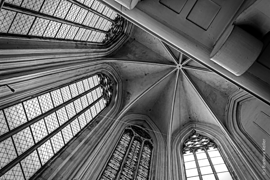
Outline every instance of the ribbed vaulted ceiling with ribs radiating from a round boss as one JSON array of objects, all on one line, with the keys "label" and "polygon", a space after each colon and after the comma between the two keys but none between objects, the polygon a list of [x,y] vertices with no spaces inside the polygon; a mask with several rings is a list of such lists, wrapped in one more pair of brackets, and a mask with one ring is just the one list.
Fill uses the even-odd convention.
[{"label": "ribbed vaulted ceiling with ribs radiating from a round boss", "polygon": [[239,89],[136,26],[109,58],[124,81],[122,109],[148,115],[164,134],[170,122],[172,133],[190,121],[218,127],[214,116],[224,124],[228,98]]}]

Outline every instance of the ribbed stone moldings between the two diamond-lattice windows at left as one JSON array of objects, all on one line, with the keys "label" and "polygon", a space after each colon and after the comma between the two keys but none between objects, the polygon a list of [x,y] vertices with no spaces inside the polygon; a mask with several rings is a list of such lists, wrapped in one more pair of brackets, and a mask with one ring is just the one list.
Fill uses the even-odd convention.
[{"label": "ribbed stone moldings between the two diamond-lattice windows at left", "polygon": [[[95,72],[110,69],[112,64],[97,59],[111,55],[122,46],[131,35],[133,26],[125,20],[122,34],[103,46],[64,41],[55,41],[55,46],[52,41],[44,39],[1,37],[0,46],[6,49],[0,49],[0,108],[83,78],[92,72],[91,68],[96,69]],[[3,86],[5,84],[15,92]]]}]

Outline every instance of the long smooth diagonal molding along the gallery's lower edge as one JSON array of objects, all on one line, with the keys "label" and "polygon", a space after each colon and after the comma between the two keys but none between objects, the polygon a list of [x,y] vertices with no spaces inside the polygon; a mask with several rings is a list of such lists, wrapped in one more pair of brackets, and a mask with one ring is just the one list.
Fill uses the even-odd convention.
[{"label": "long smooth diagonal molding along the gallery's lower edge", "polygon": [[[203,64],[206,68],[227,79],[231,83],[239,86],[241,89],[249,92],[266,104],[270,104],[270,85],[255,74],[245,72],[241,76],[232,74],[227,69],[210,60],[212,48],[203,45],[188,36],[182,31],[176,31],[172,26],[163,24],[157,16],[150,16],[146,13],[147,9],[135,7],[129,10],[114,0],[100,0],[106,6],[121,14],[130,22],[139,26],[146,32],[160,39],[172,48],[180,51],[184,55],[192,58],[194,61]],[[157,2],[158,3],[158,2]],[[145,11],[144,11],[145,10]],[[241,10],[238,9],[238,11]],[[232,20],[233,21],[233,20]]]}]

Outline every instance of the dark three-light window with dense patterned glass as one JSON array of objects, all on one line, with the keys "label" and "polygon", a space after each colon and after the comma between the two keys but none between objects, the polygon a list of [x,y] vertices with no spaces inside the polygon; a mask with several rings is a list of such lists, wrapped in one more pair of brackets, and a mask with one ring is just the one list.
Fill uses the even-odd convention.
[{"label": "dark three-light window with dense patterned glass", "polygon": [[150,179],[153,142],[139,125],[128,126],[114,149],[100,180]]}]

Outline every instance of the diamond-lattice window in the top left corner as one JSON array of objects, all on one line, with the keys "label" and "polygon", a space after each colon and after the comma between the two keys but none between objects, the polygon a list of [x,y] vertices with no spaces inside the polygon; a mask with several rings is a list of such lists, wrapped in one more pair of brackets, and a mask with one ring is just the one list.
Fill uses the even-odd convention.
[{"label": "diamond-lattice window in the top left corner", "polygon": [[123,19],[96,0],[5,0],[0,33],[106,43],[122,31]]}]

